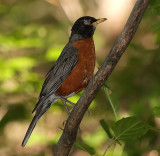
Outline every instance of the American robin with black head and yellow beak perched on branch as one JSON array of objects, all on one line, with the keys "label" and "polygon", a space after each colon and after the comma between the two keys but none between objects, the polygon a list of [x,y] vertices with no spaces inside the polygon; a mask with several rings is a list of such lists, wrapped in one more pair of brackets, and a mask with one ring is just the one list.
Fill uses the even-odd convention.
[{"label": "American robin with black head and yellow beak perched on branch", "polygon": [[54,66],[46,75],[36,112],[26,132],[22,146],[25,146],[37,121],[57,100],[67,101],[68,97],[80,92],[88,85],[95,68],[95,47],[93,34],[96,26],[106,18],[79,18],[71,29],[69,42],[62,50]]}]

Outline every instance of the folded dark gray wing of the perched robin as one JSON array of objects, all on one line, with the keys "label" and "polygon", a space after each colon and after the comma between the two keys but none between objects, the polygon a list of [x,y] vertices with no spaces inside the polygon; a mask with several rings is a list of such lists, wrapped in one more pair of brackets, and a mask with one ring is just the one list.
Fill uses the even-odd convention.
[{"label": "folded dark gray wing of the perched robin", "polygon": [[57,59],[54,66],[47,73],[46,79],[43,83],[39,101],[34,108],[36,110],[41,103],[43,103],[51,94],[55,93],[62,82],[72,72],[73,68],[78,62],[78,50],[70,42],[64,47],[61,55]]}]

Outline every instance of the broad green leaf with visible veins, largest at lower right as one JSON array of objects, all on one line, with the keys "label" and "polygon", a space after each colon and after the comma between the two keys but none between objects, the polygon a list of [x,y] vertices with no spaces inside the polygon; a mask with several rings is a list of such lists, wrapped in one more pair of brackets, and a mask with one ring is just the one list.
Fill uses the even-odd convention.
[{"label": "broad green leaf with visible veins, largest at lower right", "polygon": [[123,118],[115,123],[113,128],[115,140],[130,141],[143,136],[149,127],[136,117]]}]

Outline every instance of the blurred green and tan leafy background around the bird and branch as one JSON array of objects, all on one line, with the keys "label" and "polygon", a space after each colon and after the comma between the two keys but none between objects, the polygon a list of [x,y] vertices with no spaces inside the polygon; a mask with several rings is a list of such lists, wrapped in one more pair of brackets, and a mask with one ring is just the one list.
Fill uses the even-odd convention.
[{"label": "blurred green and tan leafy background around the bird and branch", "polygon": [[[0,1],[0,155],[49,156],[67,113],[60,101],[21,142],[45,74],[83,15],[107,17],[95,35],[97,68],[135,3],[119,0]],[[160,3],[151,1],[138,31],[86,113],[73,156],[160,155]],[[97,69],[96,69],[97,70]],[[95,71],[96,71],[95,70]],[[79,95],[70,100],[76,102]]]}]

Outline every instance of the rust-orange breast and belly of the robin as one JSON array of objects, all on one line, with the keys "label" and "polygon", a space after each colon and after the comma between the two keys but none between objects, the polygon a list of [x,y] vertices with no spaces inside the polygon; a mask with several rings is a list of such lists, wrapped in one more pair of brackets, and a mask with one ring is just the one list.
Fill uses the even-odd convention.
[{"label": "rust-orange breast and belly of the robin", "polygon": [[73,45],[78,49],[78,63],[56,91],[60,96],[78,93],[86,88],[94,72],[95,48],[93,38],[73,42]]}]

